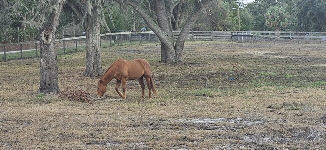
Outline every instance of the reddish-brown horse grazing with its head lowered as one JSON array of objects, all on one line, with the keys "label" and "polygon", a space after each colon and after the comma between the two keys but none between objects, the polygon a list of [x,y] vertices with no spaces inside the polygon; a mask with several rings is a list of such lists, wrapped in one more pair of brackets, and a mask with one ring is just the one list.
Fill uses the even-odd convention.
[{"label": "reddish-brown horse grazing with its head lowered", "polygon": [[[156,96],[156,88],[153,78],[151,76],[150,65],[148,61],[145,59],[135,59],[132,61],[127,61],[125,59],[118,59],[106,70],[101,80],[97,84],[97,94],[98,98],[102,97],[106,92],[107,84],[113,79],[116,79],[115,90],[122,97],[122,99],[126,99],[126,86],[127,80],[138,79],[139,84],[142,89],[141,97],[144,98],[145,94],[145,84],[143,81],[143,77],[146,78],[149,96],[151,98],[151,89],[153,90],[153,94]],[[119,87],[122,83],[123,95],[119,91]]]}]

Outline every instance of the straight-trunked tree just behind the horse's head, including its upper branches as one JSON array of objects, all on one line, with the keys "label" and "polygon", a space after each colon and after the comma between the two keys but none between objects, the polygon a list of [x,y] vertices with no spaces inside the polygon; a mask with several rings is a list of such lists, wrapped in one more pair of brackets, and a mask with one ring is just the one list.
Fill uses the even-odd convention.
[{"label": "straight-trunked tree just behind the horse's head, including its upper branches", "polygon": [[[76,15],[86,31],[86,70],[84,76],[100,77],[103,74],[101,62],[101,24],[109,28],[103,14],[102,0],[67,0],[65,11]],[[68,9],[68,10],[67,10]],[[68,15],[71,15],[68,13]]]}]

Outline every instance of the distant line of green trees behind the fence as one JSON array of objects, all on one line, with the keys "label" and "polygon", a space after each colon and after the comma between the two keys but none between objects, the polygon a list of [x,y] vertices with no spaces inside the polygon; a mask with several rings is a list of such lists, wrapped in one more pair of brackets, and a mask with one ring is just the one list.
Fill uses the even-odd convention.
[{"label": "distant line of green trees behind the fence", "polygon": [[[24,0],[17,0],[22,1]],[[69,1],[69,0],[68,0]],[[78,0],[77,0],[78,1]],[[109,1],[109,0],[108,0]],[[151,0],[148,0],[151,1]],[[181,0],[178,9],[173,13],[176,17],[173,19],[173,30],[180,30],[186,17],[192,8],[194,0]],[[70,1],[72,3],[73,1]],[[29,16],[20,16],[26,13],[26,9],[33,10],[33,6],[37,1],[25,2],[24,7],[9,7],[12,4],[11,0],[0,1],[0,42],[22,42],[27,40],[37,40],[38,31],[35,27],[29,25],[27,18]],[[67,8],[69,4],[64,6]],[[325,0],[255,0],[252,3],[244,4],[240,0],[217,0],[207,6],[206,11],[203,12],[201,17],[195,22],[191,30],[238,30],[238,16],[237,9],[240,11],[240,30],[252,31],[275,31],[276,28],[270,26],[269,18],[267,17],[269,9],[278,6],[279,12],[272,15],[282,15],[287,18],[282,20],[274,20],[275,24],[281,25],[281,31],[326,31],[326,1]],[[15,8],[15,10],[11,9]],[[16,13],[14,11],[20,11]],[[78,23],[77,15],[70,15],[63,12],[65,15],[60,16],[60,24],[57,32],[65,34],[79,35],[84,31],[84,28]],[[154,11],[152,12],[154,15]],[[143,18],[131,6],[126,6],[121,9],[119,3],[108,2],[103,8],[103,16],[107,22],[108,28],[111,32],[140,30],[142,27],[148,25]],[[275,17],[274,17],[275,18]],[[269,23],[268,23],[269,22]],[[106,33],[107,29],[101,27],[101,33]],[[6,35],[5,35],[6,33]],[[31,38],[31,39],[30,39]]]}]

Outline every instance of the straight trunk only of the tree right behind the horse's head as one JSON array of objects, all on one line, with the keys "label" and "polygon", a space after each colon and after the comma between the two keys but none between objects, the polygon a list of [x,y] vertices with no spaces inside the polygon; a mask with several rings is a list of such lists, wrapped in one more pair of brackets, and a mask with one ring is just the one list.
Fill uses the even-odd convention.
[{"label": "straight trunk only of the tree right behind the horse's head", "polygon": [[101,62],[100,21],[97,19],[99,9],[94,7],[92,15],[85,19],[86,31],[86,71],[84,76],[101,77],[103,75]]}]

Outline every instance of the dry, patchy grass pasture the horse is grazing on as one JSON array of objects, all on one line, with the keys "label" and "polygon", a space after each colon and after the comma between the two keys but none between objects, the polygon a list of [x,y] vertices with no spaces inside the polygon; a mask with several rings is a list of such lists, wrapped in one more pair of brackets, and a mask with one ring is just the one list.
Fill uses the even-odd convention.
[{"label": "dry, patchy grass pasture the horse is grazing on", "polygon": [[[96,95],[85,51],[58,55],[62,92]],[[325,149],[326,45],[186,42],[184,64],[160,61],[159,44],[103,48],[105,72],[118,58],[144,58],[158,96],[76,102],[37,94],[39,58],[0,62],[0,149]],[[121,88],[121,87],[120,87]],[[121,89],[120,89],[121,90]]]}]

